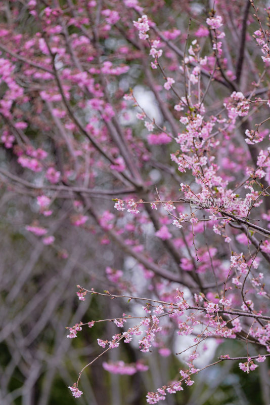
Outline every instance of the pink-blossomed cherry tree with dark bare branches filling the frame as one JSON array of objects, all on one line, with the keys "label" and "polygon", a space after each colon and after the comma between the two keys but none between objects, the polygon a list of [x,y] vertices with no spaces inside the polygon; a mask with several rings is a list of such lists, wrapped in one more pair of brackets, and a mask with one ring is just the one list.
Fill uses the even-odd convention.
[{"label": "pink-blossomed cherry tree with dark bare branches filling the frame", "polygon": [[[63,379],[84,403],[92,394],[83,376],[92,367],[112,382],[144,376],[157,352],[176,356],[179,367],[154,384],[138,377],[147,390],[142,403],[176,403],[201,374],[229,364],[246,380],[258,368],[258,400],[268,405],[267,7],[252,0],[1,5],[2,200],[12,199],[18,233],[34,246],[24,271],[4,279],[3,297],[9,313],[11,302],[34,292],[25,318],[42,303],[27,328],[12,315],[0,332],[2,341],[13,336],[10,352],[20,342],[5,375],[18,365],[23,373],[23,357],[31,363],[18,388],[22,403],[37,403],[33,386],[46,357],[39,350],[33,362],[27,344],[53,323],[59,338],[50,367],[70,348],[72,376],[62,369]],[[55,270],[36,291],[38,282],[26,283],[41,252]],[[73,304],[75,268],[84,273],[72,276]],[[82,321],[86,314],[92,318]],[[80,339],[83,367],[72,349]],[[132,362],[115,354],[128,350]],[[49,403],[50,367],[39,405]],[[11,403],[17,394],[8,394],[5,378],[1,395]],[[120,403],[117,395],[111,403]]]}]

